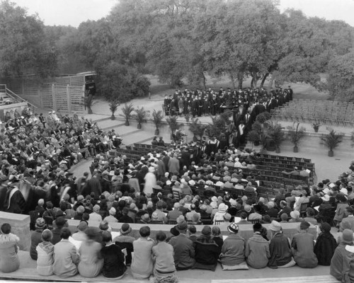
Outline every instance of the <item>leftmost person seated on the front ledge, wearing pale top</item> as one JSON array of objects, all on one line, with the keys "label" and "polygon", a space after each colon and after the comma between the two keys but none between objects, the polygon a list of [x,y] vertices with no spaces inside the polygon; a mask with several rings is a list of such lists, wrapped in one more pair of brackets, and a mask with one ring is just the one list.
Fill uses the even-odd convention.
[{"label": "leftmost person seated on the front ledge, wearing pale top", "polygon": [[11,225],[8,223],[1,225],[0,232],[0,271],[13,272],[20,267],[17,255],[20,238],[11,233]]}]

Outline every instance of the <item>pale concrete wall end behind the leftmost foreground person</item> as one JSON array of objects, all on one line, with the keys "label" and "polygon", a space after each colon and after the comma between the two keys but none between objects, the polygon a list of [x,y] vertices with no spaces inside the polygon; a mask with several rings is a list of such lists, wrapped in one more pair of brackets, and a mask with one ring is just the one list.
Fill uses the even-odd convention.
[{"label": "pale concrete wall end behind the leftmost foreground person", "polygon": [[21,250],[30,250],[30,216],[16,213],[0,212],[0,225],[11,225],[11,233],[20,238]]}]

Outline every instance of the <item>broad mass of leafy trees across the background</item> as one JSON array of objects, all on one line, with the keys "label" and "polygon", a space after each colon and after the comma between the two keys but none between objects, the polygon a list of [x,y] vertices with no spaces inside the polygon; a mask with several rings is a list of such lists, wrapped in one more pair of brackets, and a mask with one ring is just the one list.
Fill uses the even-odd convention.
[{"label": "broad mass of leafy trees across the background", "polygon": [[85,66],[97,72],[103,95],[121,100],[147,95],[142,74],[176,87],[183,81],[205,87],[207,73],[229,76],[239,88],[251,77],[253,88],[270,79],[310,83],[336,99],[350,96],[346,83],[346,95],[334,94],[340,78],[331,68],[344,71],[340,63],[350,59],[354,28],[293,9],[280,13],[276,0],[120,0],[108,16],[79,28],[45,27],[8,1],[1,2],[0,16],[6,75]]}]

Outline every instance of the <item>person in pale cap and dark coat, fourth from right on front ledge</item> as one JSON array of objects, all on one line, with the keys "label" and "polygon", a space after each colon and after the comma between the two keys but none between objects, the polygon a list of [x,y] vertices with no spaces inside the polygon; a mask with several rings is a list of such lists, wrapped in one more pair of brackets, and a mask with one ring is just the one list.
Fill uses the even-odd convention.
[{"label": "person in pale cap and dark coat, fourth from right on front ledge", "polygon": [[292,258],[290,239],[282,233],[282,226],[278,221],[273,220],[269,226],[272,238],[269,243],[270,258],[268,267],[292,267],[296,264]]}]

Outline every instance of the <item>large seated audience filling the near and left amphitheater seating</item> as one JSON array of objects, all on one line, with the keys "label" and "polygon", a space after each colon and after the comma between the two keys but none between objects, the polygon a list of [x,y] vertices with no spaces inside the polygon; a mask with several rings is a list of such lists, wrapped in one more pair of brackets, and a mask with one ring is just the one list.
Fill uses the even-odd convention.
[{"label": "large seated audience filling the near and left amphitheater seating", "polygon": [[[196,149],[198,152],[192,155],[190,151],[187,152],[187,146],[178,146],[141,156],[139,160],[126,158],[124,154],[109,157],[105,153],[108,149],[116,147],[114,136],[112,139],[105,140],[105,134],[101,133],[96,125],[91,125],[90,121],[81,119],[82,121],[79,122],[80,120],[74,118],[64,122],[64,117],[58,117],[59,120],[56,120],[55,113],[52,112],[50,115],[54,119],[46,119],[45,123],[32,120],[28,123],[24,122],[25,125],[15,125],[16,127],[7,125],[6,131],[1,132],[4,137],[1,139],[4,150],[1,156],[1,179],[4,185],[1,193],[4,197],[1,200],[4,200],[4,203],[1,203],[0,208],[7,212],[30,214],[31,228],[34,230],[32,253],[42,246],[40,241],[44,241],[52,245],[60,242],[62,247],[59,245],[57,250],[62,252],[60,255],[62,257],[72,254],[71,268],[63,270],[62,266],[55,264],[56,260],[57,262],[60,260],[56,258],[60,253],[55,253],[55,247],[50,244],[42,247],[45,253],[41,251],[41,262],[45,262],[43,257],[53,254],[54,263],[51,268],[54,274],[72,276],[80,270],[77,266],[81,262],[81,254],[69,244],[69,231],[65,230],[66,219],[77,219],[81,223],[91,220],[100,221],[101,230],[109,229],[109,224],[117,221],[127,225],[135,222],[146,225],[176,225],[171,229],[172,238],[165,238],[167,235],[164,236],[162,233],[159,238],[156,237],[159,242],[157,246],[161,244],[160,248],[155,248],[155,243],[149,242],[152,240],[149,239],[148,229],[140,231],[139,243],[143,242],[140,243],[143,248],[139,250],[143,254],[135,253],[136,260],[143,261],[151,253],[156,261],[151,262],[147,270],[139,270],[139,264],[135,265],[137,269],[132,268],[132,274],[137,278],[154,274],[154,278],[160,281],[164,280],[165,275],[171,275],[171,280],[176,280],[178,269],[199,267],[215,270],[217,260],[224,262],[223,268],[226,270],[246,269],[249,266],[287,267],[295,263],[299,266],[314,267],[317,262],[320,262],[319,255],[335,253],[336,243],[333,242],[331,250],[328,249],[328,245],[322,244],[319,245],[321,247],[318,247],[319,250],[314,246],[313,254],[305,253],[304,251],[309,252],[309,240],[312,240],[311,243],[314,240],[307,233],[310,223],[321,224],[320,236],[324,241],[329,241],[331,235],[326,226],[327,222],[336,226],[339,231],[343,231],[343,239],[339,243],[344,241],[347,244],[341,253],[338,252],[338,256],[345,254],[347,246],[350,246],[348,230],[353,234],[354,229],[353,221],[350,220],[353,219],[353,207],[351,207],[354,199],[353,164],[350,166],[350,171],[343,173],[335,182],[323,180],[318,185],[299,185],[291,190],[280,189],[274,200],[268,200],[259,197],[257,193],[259,184],[256,178],[242,171],[242,168],[244,171],[254,168],[252,158],[255,153],[251,151],[238,151],[233,146],[226,151],[219,151],[219,141],[211,139],[205,142],[205,146],[201,144]],[[78,150],[81,137],[88,142],[84,151]],[[94,144],[93,139],[98,139],[98,142]],[[65,149],[70,149],[70,146],[74,145],[78,146],[76,150],[69,151],[69,154],[64,153]],[[192,152],[194,150],[195,148]],[[69,168],[80,158],[88,156],[93,156],[91,178],[89,173],[74,177],[69,172]],[[222,193],[219,193],[220,190]],[[240,191],[246,193],[240,194]],[[294,237],[289,247],[277,246],[284,242],[281,227],[284,222],[299,222],[299,233],[304,234],[300,235],[299,239]],[[266,223],[270,224],[273,233],[269,251],[267,245],[260,241],[259,245],[265,246],[263,247],[265,254],[259,256],[263,259],[262,262],[254,263],[252,258],[258,258],[258,255],[251,253],[250,248],[245,246],[246,242],[242,241],[237,233],[242,229],[243,224],[254,224],[256,239],[253,241],[256,243],[252,243],[258,245],[258,234],[266,241],[269,240],[266,239],[264,227],[261,226]],[[214,229],[215,227],[205,226],[201,236],[195,235],[193,226],[200,224],[227,226],[230,238],[229,241],[225,240],[225,245],[243,243],[244,249],[240,244],[240,247],[233,247],[235,250],[231,255],[227,254],[230,250],[224,247],[224,241],[219,231]],[[44,231],[41,230],[44,227],[48,230],[45,230],[43,236]],[[111,239],[108,233],[102,232],[100,238],[97,236],[97,231],[86,232],[85,224],[79,225],[78,229],[80,234],[77,237],[81,236],[85,241],[106,244],[106,249],[100,250],[101,247],[96,244],[87,243],[88,246],[96,246],[94,250],[96,250],[97,260],[94,262],[95,272],[86,276],[94,277],[101,270],[108,278],[124,275],[126,269],[122,265],[122,256],[113,257],[113,251],[117,250],[113,245],[117,241]],[[3,234],[6,236],[10,230],[5,226]],[[125,230],[121,232],[124,233]],[[183,233],[190,234],[192,245],[189,251],[182,253],[178,250],[178,252],[181,252],[182,258],[188,253],[190,256],[188,264],[184,262],[180,264],[175,256],[172,265],[171,255],[161,254],[161,249],[164,250],[165,241],[169,241],[173,246],[174,239],[181,238],[180,235]],[[6,238],[5,236],[3,238]],[[7,238],[9,241],[16,240],[16,236]],[[131,237],[120,240],[122,243],[135,243],[135,239]],[[149,246],[151,250],[147,248]],[[190,244],[187,246],[190,247]],[[174,251],[176,255],[176,250]],[[284,255],[279,255],[279,251]],[[115,255],[117,253],[115,252]],[[208,260],[205,261],[206,255]],[[232,258],[234,255],[237,255],[236,259]],[[349,255],[346,254],[347,258]],[[84,258],[93,258],[93,256],[85,255]],[[268,259],[266,263],[265,258]],[[106,270],[105,273],[106,260],[118,262],[120,272],[110,274],[110,270]],[[159,262],[157,267],[156,262]],[[167,262],[170,262],[169,266],[164,265]],[[327,261],[326,265],[328,263],[331,262]],[[93,264],[93,262],[87,260],[85,264]],[[130,264],[134,265],[134,258],[132,262],[127,262],[127,265]],[[50,267],[44,267],[44,270],[50,270]],[[335,269],[333,267],[333,270]]]}]

